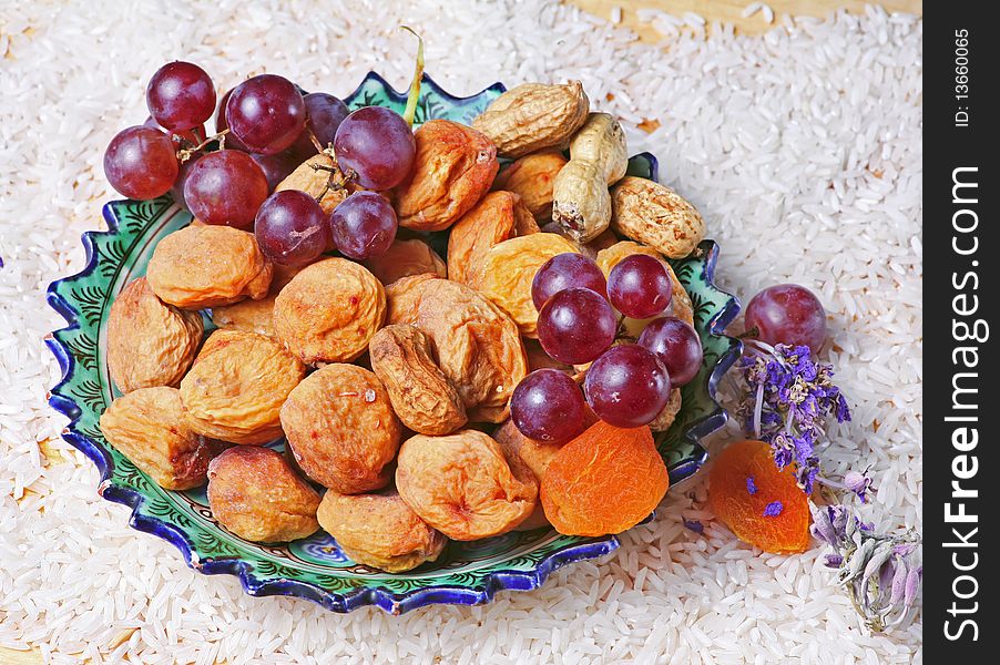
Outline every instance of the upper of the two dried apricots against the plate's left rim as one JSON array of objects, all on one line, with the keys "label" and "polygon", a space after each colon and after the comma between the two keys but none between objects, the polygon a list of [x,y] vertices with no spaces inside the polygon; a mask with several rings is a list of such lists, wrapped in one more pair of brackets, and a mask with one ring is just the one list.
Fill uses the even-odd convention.
[{"label": "upper of the two dried apricots against the plate's left rim", "polygon": [[202,316],[166,305],[145,277],[131,282],[108,317],[108,369],[122,392],[176,387],[202,342]]}]

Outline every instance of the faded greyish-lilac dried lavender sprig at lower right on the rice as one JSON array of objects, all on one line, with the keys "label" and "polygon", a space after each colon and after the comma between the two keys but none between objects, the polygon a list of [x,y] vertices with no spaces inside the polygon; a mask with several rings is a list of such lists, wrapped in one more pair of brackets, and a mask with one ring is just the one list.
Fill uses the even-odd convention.
[{"label": "faded greyish-lilac dried lavender sprig at lower right on the rice", "polygon": [[813,535],[834,551],[826,565],[837,570],[837,582],[865,624],[881,632],[906,622],[924,577],[917,563],[920,535],[875,533],[845,505],[812,510]]}]

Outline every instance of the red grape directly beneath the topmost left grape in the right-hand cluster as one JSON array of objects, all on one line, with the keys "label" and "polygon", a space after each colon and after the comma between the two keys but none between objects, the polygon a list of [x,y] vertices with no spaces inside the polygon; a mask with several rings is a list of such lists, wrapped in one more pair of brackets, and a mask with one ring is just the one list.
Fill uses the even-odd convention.
[{"label": "red grape directly beneath the topmost left grape in the right-hand cluster", "polygon": [[611,305],[589,288],[559,291],[538,315],[542,348],[550,357],[570,365],[595,359],[611,346],[616,331]]}]

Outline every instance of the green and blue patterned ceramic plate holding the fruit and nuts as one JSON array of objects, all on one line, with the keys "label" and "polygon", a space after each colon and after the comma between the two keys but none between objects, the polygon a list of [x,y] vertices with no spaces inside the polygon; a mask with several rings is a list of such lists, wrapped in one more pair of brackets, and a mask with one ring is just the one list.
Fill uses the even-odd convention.
[{"label": "green and blue patterned ceramic plate holding the fruit and nuts", "polygon": [[[447,117],[468,123],[503,90],[497,83],[479,94],[456,98],[425,78],[417,121]],[[371,73],[346,101],[353,109],[379,104],[401,112],[405,95]],[[633,157],[630,173],[655,180],[655,158]],[[574,538],[541,529],[452,542],[438,561],[388,574],[351,562],[323,532],[274,545],[229,533],[213,519],[204,489],[161,489],[111,447],[98,427],[100,415],[118,395],[106,362],[111,303],[129,282],[145,274],[156,243],[187,225],[191,215],[164,196],[109,203],[104,218],[109,231],[83,236],[86,267],[49,288],[49,303],[69,324],[48,340],[63,372],[50,403],[71,420],[63,437],[101,470],[101,495],[132,507],[131,525],[172,542],[192,567],[237,575],[252,595],[300,596],[336,612],[378,605],[398,614],[431,603],[484,603],[501,590],[537,589],[557,567],[619,546],[613,535]],[[722,334],[739,305],[712,284],[717,253],[715,243],[705,241],[694,255],[673,263],[691,294],[705,357],[697,378],[682,389],[683,407],[673,427],[657,439],[672,485],[698,470],[705,460],[698,440],[725,422],[726,413],[714,398],[716,382],[741,351],[738,340]],[[273,446],[280,449],[282,442]]]}]

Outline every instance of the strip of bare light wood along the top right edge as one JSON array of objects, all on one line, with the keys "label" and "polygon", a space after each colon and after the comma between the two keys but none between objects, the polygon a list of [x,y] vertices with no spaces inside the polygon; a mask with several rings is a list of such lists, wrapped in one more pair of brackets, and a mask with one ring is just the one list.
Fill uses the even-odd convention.
[{"label": "strip of bare light wood along the top right edge", "polygon": [[659,9],[682,18],[684,12],[694,12],[706,21],[725,21],[732,23],[739,34],[759,34],[774,28],[783,14],[825,18],[836,9],[847,9],[853,13],[865,11],[866,4],[880,4],[886,11],[902,11],[918,16],[924,14],[924,0],[772,0],[766,4],[774,10],[774,23],[764,20],[764,12],[758,11],[749,18],[743,18],[743,10],[752,0],[563,0],[602,19],[611,19],[614,8],[621,8],[620,25],[633,30],[642,41],[656,42],[663,39],[655,28],[639,20],[637,10]]}]

